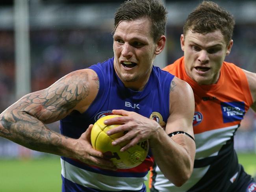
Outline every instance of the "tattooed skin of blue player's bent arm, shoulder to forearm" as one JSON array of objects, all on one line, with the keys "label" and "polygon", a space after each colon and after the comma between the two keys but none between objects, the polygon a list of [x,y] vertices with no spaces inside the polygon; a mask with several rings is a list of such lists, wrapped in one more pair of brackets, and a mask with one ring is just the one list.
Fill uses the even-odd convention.
[{"label": "tattooed skin of blue player's bent arm, shoulder to forearm", "polygon": [[0,136],[38,151],[59,146],[63,136],[44,123],[64,118],[88,95],[88,74],[70,73],[47,89],[24,96],[0,114]]}]

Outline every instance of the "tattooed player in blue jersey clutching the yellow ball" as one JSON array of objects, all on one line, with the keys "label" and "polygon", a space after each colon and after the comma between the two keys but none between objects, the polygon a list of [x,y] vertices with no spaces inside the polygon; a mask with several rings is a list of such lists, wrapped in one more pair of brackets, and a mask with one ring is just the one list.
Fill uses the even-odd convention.
[{"label": "tattooed player in blue jersey clutching the yellow ball", "polygon": [[[183,185],[195,156],[195,104],[188,83],[153,66],[165,46],[166,15],[161,0],[121,4],[115,13],[114,57],[22,97],[0,114],[0,136],[60,155],[62,191],[145,192],[153,161],[171,182]],[[117,169],[92,148],[92,124],[105,114],[122,115],[104,122],[120,124],[108,135],[128,131],[112,143],[129,141],[121,151],[149,140],[139,166]],[[59,120],[61,133],[48,129],[46,124]]]}]

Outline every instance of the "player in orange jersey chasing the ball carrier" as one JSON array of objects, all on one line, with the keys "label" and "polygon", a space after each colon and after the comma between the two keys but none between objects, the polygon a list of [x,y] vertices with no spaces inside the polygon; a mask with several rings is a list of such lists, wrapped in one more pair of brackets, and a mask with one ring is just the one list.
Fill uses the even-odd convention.
[{"label": "player in orange jersey chasing the ball carrier", "polygon": [[231,51],[233,16],[203,1],[189,14],[180,37],[184,56],[164,70],[189,83],[195,96],[196,156],[192,176],[181,187],[156,164],[151,192],[252,192],[254,179],[238,163],[234,135],[251,107],[256,111],[256,74],[224,61]]}]

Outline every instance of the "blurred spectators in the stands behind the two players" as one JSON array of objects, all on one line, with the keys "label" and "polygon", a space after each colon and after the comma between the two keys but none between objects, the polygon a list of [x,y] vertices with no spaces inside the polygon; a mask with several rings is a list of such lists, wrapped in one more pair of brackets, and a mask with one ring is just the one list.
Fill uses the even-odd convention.
[{"label": "blurred spectators in the stands behind the two players", "polygon": [[[181,33],[182,26],[167,28],[168,63],[173,63],[183,55],[180,49]],[[256,24],[236,25],[234,46],[226,61],[256,72],[255,34]],[[0,31],[0,113],[17,100],[14,44],[13,31]],[[32,91],[45,89],[73,70],[86,68],[112,57],[112,44],[111,32],[96,28],[30,31]],[[56,125],[52,129],[59,131]],[[252,111],[246,115],[239,129],[256,132],[256,116]]]}]

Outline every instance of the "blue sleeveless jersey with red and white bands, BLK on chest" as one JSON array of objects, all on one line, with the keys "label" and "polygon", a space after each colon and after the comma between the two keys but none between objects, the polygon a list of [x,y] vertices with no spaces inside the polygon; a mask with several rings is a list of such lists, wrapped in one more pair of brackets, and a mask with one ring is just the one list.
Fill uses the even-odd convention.
[{"label": "blue sleeveless jersey with red and white bands, BLK on chest", "polygon": [[[99,79],[95,100],[84,113],[72,113],[60,122],[61,134],[79,138],[89,124],[102,116],[112,114],[113,109],[134,111],[164,124],[169,116],[169,89],[174,78],[169,72],[153,66],[149,80],[142,91],[124,87],[116,75],[113,59],[92,65]],[[139,166],[117,171],[89,166],[76,159],[61,157],[62,191],[137,191],[145,192],[144,181],[153,164],[149,150],[147,158]]]}]

